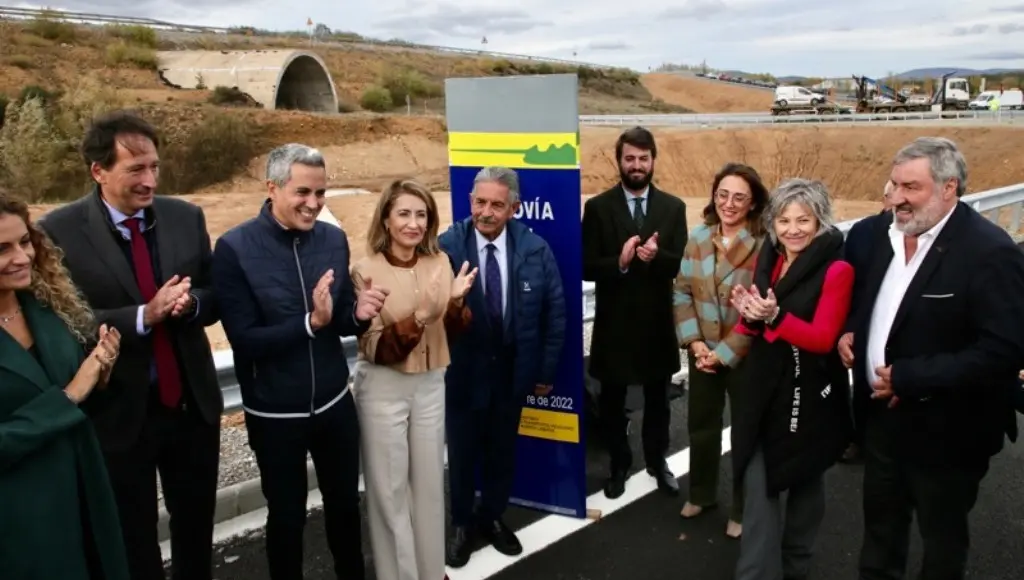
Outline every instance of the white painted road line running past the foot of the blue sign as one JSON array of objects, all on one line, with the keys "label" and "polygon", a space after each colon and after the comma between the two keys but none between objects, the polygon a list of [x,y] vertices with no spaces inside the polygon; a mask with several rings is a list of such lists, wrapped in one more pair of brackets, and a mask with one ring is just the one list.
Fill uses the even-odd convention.
[{"label": "white painted road line running past the foot of the blue sign", "polygon": [[[722,430],[722,455],[725,455],[732,449],[731,432],[731,426]],[[685,475],[690,470],[690,448],[687,447],[669,457],[668,462],[669,469],[677,478]],[[603,491],[599,491],[587,498],[587,508],[600,509],[601,517],[604,519],[643,499],[656,490],[657,484],[654,482],[654,479],[648,475],[646,470],[639,471],[627,480],[626,493],[621,497],[608,499],[604,497]],[[525,560],[555,542],[567,538],[587,526],[598,522],[598,520],[569,517],[566,515],[546,515],[516,532],[516,536],[522,543],[522,553],[520,555],[514,557],[507,556],[496,550],[494,546],[486,546],[473,552],[473,556],[469,558],[469,564],[465,567],[459,569],[447,568],[447,575],[452,580],[485,580],[513,564]]]}]

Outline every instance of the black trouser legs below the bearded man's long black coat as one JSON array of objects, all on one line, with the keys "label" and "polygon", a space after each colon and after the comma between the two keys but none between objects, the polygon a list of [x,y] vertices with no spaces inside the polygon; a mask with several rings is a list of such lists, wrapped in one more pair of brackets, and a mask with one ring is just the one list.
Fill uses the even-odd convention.
[{"label": "black trouser legs below the bearded man's long black coat", "polygon": [[[665,460],[669,451],[669,384],[671,377],[663,380],[646,382],[643,385],[643,454],[648,466],[656,466]],[[611,470],[628,470],[633,465],[633,452],[630,449],[629,436],[626,426],[629,419],[626,416],[626,384],[611,382],[601,383],[601,392],[597,398],[598,412],[601,414],[601,432],[608,454],[611,456]]]}]

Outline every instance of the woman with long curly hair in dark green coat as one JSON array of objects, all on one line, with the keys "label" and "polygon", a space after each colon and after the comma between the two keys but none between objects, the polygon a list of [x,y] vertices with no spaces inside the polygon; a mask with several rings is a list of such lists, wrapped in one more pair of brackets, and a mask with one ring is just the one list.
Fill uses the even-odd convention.
[{"label": "woman with long curly hair in dark green coat", "polygon": [[103,384],[117,330],[99,329],[29,220],[0,192],[0,577],[128,580],[117,504],[78,404]]}]

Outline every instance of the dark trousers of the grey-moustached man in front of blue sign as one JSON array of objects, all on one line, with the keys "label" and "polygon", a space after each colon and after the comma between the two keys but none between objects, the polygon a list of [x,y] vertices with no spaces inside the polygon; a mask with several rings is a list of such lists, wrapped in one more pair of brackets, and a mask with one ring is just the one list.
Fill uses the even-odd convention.
[{"label": "dark trousers of the grey-moustached man in front of blue sign", "polygon": [[479,522],[500,519],[508,506],[515,477],[515,446],[522,404],[507,392],[494,393],[485,409],[449,407],[449,485],[452,525],[473,523],[476,473],[480,473]]}]

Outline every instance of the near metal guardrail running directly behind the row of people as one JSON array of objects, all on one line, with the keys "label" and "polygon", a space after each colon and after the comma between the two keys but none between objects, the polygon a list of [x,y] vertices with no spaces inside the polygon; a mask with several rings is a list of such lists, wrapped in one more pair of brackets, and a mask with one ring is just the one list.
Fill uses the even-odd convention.
[{"label": "near metal guardrail running directly behind the row of people", "polygon": [[[1024,205],[1024,183],[1017,183],[1016,185],[1009,185],[997,190],[989,190],[987,192],[965,196],[964,202],[988,219],[995,222],[999,221],[999,214],[1001,213],[1001,210],[1010,207],[1011,217],[1007,230],[1012,235],[1015,235],[1015,239],[1019,239],[1017,235],[1021,231],[1021,209],[1022,205]],[[861,218],[843,221],[838,223],[837,227],[839,227],[843,234],[846,234],[850,231],[850,227],[852,227],[853,224],[860,219]],[[583,321],[584,324],[587,324],[594,321],[594,305],[596,303],[596,298],[594,297],[594,283],[584,282],[582,294],[584,303]],[[348,359],[348,366],[349,368],[352,368],[353,365],[355,365],[356,357],[358,355],[355,339],[352,337],[345,337],[341,339],[341,343],[345,349],[345,357]],[[213,360],[217,367],[217,379],[220,381],[220,390],[224,395],[224,413],[232,413],[241,410],[242,392],[239,390],[238,379],[234,377],[234,360],[231,356],[231,351],[218,350],[213,354]]]}]

